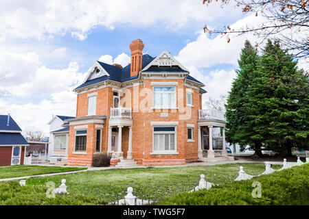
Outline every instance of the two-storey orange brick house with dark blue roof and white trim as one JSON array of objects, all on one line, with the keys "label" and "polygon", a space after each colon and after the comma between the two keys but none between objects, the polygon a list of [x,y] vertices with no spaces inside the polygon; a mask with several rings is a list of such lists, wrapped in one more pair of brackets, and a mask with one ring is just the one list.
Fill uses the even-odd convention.
[{"label": "two-storey orange brick house with dark blue roof and white trim", "polygon": [[202,110],[200,81],[163,51],[143,54],[130,44],[131,62],[95,62],[77,94],[76,118],[69,122],[68,165],[91,166],[94,153],[114,153],[118,166],[185,164],[226,156],[225,121]]}]

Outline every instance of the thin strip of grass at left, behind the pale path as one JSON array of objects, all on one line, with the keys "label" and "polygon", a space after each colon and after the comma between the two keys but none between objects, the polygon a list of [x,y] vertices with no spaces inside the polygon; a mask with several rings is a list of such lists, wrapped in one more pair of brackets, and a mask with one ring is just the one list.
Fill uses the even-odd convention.
[{"label": "thin strip of grass at left, behind the pale path", "polygon": [[12,177],[25,177],[55,172],[69,172],[85,170],[87,168],[60,167],[60,166],[0,166],[0,179]]}]

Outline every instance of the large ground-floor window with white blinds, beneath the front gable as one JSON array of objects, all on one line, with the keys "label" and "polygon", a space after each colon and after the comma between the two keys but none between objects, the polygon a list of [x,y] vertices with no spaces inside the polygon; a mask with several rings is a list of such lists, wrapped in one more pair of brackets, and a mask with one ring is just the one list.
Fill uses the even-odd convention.
[{"label": "large ground-floor window with white blinds, beneath the front gable", "polygon": [[176,127],[153,127],[153,151],[176,151]]}]

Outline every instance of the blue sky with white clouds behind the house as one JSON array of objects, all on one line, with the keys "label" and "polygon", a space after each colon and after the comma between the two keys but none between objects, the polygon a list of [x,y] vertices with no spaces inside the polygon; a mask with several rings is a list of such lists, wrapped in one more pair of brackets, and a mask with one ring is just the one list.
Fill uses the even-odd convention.
[{"label": "blue sky with white clouds behind the house", "polygon": [[[95,60],[128,63],[129,44],[140,38],[144,53],[171,52],[205,83],[209,97],[227,95],[247,38],[203,33],[261,22],[233,1],[224,9],[197,0],[0,0],[0,114],[10,112],[23,130],[49,133],[52,114],[74,116],[78,86]],[[4,21],[4,22],[3,22]]]}]

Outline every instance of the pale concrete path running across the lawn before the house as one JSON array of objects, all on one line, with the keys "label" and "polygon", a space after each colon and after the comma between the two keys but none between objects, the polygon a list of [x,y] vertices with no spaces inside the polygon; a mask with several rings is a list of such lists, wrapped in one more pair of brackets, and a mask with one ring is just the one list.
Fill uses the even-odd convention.
[{"label": "pale concrete path running across the lawn before the house", "polygon": [[[70,171],[70,172],[56,172],[56,173],[48,173],[48,174],[43,174],[43,175],[32,175],[32,176],[25,176],[25,177],[12,177],[12,178],[5,178],[5,179],[0,179],[1,181],[12,181],[12,180],[19,180],[19,179],[28,179],[30,177],[50,177],[54,175],[66,175],[66,174],[72,174],[76,172],[85,172],[85,171],[97,171],[97,170],[112,170],[112,169],[130,169],[130,168],[167,168],[167,167],[172,167],[172,168],[177,168],[177,167],[183,167],[183,166],[213,166],[213,165],[218,165],[218,164],[242,164],[242,163],[260,163],[260,162],[252,162],[248,160],[233,160],[233,161],[218,161],[218,162],[194,162],[194,163],[189,163],[189,164],[184,164],[184,165],[168,165],[168,166],[128,166],[128,167],[115,167],[115,166],[108,166],[108,167],[89,167],[87,170],[76,170],[76,171]],[[55,166],[52,164],[38,164],[37,166]],[[67,166],[62,166],[62,167],[67,167]],[[78,166],[82,167],[82,166]]]}]

